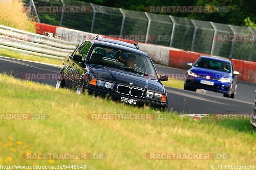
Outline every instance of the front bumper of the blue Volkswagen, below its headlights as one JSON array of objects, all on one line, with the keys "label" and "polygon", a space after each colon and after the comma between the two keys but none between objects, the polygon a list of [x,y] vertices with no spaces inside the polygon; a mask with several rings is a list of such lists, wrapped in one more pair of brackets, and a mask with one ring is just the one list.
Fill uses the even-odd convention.
[{"label": "front bumper of the blue Volkswagen, below its headlights", "polygon": [[[200,83],[201,80],[214,82],[214,85],[202,84],[202,83]],[[228,83],[223,83],[223,82],[220,82],[219,80],[215,80],[215,79],[208,80],[208,79],[202,78],[202,77],[195,78],[195,77],[187,75],[187,78],[185,81],[185,86],[228,94],[230,91],[231,81]]]}]

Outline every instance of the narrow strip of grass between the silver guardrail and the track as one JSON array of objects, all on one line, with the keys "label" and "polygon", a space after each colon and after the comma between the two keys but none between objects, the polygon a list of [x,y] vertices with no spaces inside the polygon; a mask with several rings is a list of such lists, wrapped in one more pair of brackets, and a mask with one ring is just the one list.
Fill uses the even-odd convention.
[{"label": "narrow strip of grass between the silver guardrail and the track", "polygon": [[43,62],[43,63],[50,63],[50,64],[57,64],[57,65],[62,65],[63,60],[56,59],[56,58],[48,58],[48,57],[40,57],[36,55],[24,55],[17,53],[15,51],[9,50],[9,49],[0,49],[0,55],[7,56],[7,57],[12,57],[12,58],[19,58],[23,60],[31,60],[31,61],[38,61],[38,62]]}]

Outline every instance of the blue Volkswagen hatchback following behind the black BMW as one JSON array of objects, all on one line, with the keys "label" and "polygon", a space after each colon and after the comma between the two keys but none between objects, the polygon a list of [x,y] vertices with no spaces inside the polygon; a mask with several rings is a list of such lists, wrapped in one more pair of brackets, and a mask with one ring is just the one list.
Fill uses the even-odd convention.
[{"label": "blue Volkswagen hatchback following behind the black BMW", "polygon": [[186,73],[184,90],[204,89],[223,93],[224,97],[235,97],[239,72],[234,70],[231,61],[201,56],[188,66],[191,68]]}]

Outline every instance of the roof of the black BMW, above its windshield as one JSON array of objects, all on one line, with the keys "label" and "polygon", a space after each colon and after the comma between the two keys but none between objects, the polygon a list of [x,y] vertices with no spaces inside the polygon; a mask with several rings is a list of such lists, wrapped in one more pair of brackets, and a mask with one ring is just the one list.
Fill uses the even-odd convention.
[{"label": "roof of the black BMW, above its windshield", "polygon": [[[149,57],[149,55],[143,51],[138,50],[134,45],[131,44],[131,46],[135,47],[128,47],[125,46],[123,44],[117,44],[117,43],[113,43],[113,42],[108,42],[108,41],[98,41],[98,40],[91,40],[94,42],[95,45],[99,45],[99,46],[107,46],[107,47],[112,47],[112,48],[117,48],[117,49],[122,49],[122,50],[126,50],[126,51],[130,51],[133,53],[137,53],[137,54],[142,54],[142,55],[146,55]],[[114,41],[118,41],[118,40],[114,40]],[[122,43],[127,43],[127,42],[123,42]],[[127,43],[130,44],[130,43]],[[130,46],[130,45],[129,45]]]}]

